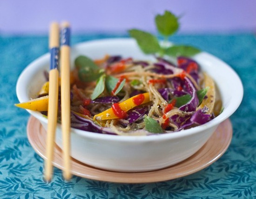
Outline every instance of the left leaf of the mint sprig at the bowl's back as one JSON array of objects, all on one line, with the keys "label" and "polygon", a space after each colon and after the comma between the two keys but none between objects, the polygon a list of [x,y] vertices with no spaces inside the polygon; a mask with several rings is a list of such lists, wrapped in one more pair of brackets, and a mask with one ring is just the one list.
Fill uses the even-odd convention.
[{"label": "left leaf of the mint sprig at the bowl's back", "polygon": [[157,38],[148,32],[137,29],[129,30],[129,34],[133,37],[145,54],[155,54],[161,50]]}]

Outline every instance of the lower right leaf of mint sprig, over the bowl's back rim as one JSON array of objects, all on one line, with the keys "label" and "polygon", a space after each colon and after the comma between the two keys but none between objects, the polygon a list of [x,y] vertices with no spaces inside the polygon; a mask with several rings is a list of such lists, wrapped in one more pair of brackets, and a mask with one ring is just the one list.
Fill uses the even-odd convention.
[{"label": "lower right leaf of mint sprig, over the bowl's back rim", "polygon": [[199,52],[201,52],[201,50],[189,45],[173,45],[165,49],[165,54],[172,57],[192,57]]}]

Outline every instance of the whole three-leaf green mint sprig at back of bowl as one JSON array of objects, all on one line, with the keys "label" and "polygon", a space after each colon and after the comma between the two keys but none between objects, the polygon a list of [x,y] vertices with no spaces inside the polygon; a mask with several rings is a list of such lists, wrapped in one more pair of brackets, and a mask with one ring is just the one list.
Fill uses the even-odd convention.
[{"label": "whole three-leaf green mint sprig at back of bowl", "polygon": [[[178,18],[169,11],[165,11],[163,15],[156,15],[155,25],[158,33],[161,34],[166,41],[168,41],[169,37],[175,34],[180,27]],[[200,52],[199,49],[189,45],[164,46],[155,35],[142,30],[131,29],[128,32],[129,35],[136,40],[141,51],[145,54],[191,57]]]}]

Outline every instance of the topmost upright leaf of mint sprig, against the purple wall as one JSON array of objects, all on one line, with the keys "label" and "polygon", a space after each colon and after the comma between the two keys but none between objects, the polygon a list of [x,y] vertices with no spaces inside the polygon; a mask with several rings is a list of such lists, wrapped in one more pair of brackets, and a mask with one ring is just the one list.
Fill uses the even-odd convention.
[{"label": "topmost upright leaf of mint sprig, against the purple wall", "polygon": [[165,11],[163,15],[155,16],[155,25],[158,32],[165,37],[174,34],[179,28],[179,22],[176,16],[169,11]]}]

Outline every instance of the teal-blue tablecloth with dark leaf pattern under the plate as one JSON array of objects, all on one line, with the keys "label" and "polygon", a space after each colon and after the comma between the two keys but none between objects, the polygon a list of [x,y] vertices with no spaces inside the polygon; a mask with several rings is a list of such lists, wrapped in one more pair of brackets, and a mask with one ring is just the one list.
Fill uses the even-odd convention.
[{"label": "teal-blue tablecloth with dark leaf pattern under the plate", "polygon": [[[123,34],[74,35],[72,44]],[[256,198],[256,39],[253,34],[176,35],[179,44],[200,47],[228,63],[241,77],[244,98],[230,117],[233,138],[226,153],[188,176],[148,184],[119,184],[74,176],[62,180],[54,168],[43,181],[43,160],[27,140],[29,114],[18,103],[15,84],[21,71],[48,52],[45,36],[0,36],[0,198],[130,199]]]}]

